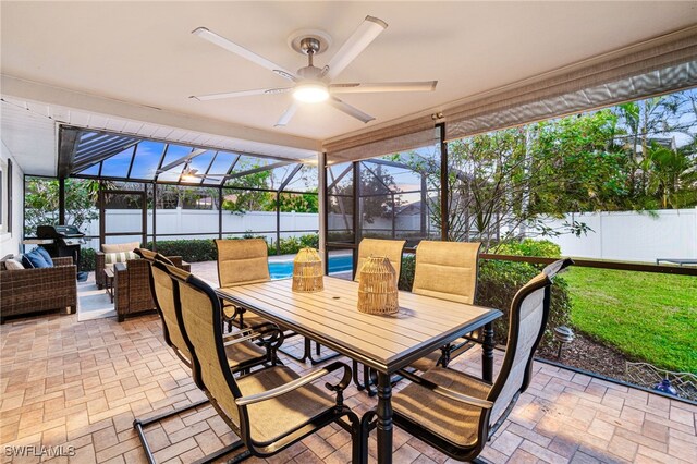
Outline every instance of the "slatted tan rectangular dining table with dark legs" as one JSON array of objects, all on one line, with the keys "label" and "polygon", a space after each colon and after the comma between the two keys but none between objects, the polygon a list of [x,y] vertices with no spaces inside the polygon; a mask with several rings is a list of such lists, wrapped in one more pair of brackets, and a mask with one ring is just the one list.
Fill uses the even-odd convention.
[{"label": "slatted tan rectangular dining table with dark legs", "polygon": [[359,313],[358,283],[325,277],[325,289],[293,292],[292,279],[218,289],[218,295],[313,339],[378,373],[378,462],[392,462],[391,376],[463,334],[484,327],[482,378],[493,374],[498,309],[400,292],[392,316]]}]

